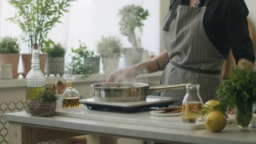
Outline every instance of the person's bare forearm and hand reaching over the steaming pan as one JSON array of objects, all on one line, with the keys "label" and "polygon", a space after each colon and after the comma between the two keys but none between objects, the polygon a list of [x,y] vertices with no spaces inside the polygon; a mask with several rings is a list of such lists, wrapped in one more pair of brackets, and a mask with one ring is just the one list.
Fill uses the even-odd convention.
[{"label": "person's bare forearm and hand reaching over the steaming pan", "polygon": [[[108,76],[107,82],[123,82],[133,79],[139,74],[148,74],[163,70],[166,67],[167,58],[168,53],[164,51],[150,61],[141,62],[136,65],[132,65],[131,67],[115,71]],[[157,63],[159,64],[160,69],[158,69]]]}]

